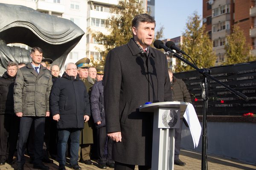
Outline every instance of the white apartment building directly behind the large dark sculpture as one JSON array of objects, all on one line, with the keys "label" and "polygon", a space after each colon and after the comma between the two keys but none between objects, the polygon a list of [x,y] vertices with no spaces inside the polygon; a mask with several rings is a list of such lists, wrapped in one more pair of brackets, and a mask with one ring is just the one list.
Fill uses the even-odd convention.
[{"label": "white apartment building directly behind the large dark sculpture", "polygon": [[[85,0],[0,0],[0,3],[22,5],[33,8],[45,14],[55,15],[73,21],[84,32],[86,32],[87,1]],[[23,44],[12,44],[30,50]],[[83,36],[79,43],[70,51],[66,62],[76,62],[86,56],[86,37]],[[61,72],[64,72],[62,68]]]}]

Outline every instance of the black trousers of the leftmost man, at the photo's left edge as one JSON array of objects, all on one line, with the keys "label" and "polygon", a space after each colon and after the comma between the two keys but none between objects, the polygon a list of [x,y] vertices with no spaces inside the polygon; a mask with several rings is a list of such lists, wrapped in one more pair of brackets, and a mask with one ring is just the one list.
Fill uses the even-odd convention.
[{"label": "black trousers of the leftmost man, at the photo's left edge", "polygon": [[0,156],[3,161],[13,159],[17,146],[20,118],[13,114],[0,115]]}]

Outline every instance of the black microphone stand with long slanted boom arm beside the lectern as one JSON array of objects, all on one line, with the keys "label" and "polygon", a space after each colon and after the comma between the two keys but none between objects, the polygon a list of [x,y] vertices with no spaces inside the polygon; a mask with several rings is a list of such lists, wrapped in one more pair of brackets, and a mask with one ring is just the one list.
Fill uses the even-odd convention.
[{"label": "black microphone stand with long slanted boom arm beside the lectern", "polygon": [[192,68],[195,68],[200,74],[203,75],[204,81],[200,84],[201,88],[202,88],[201,96],[202,96],[202,99],[204,101],[203,102],[203,135],[202,135],[201,170],[207,170],[208,169],[207,168],[207,126],[206,126],[207,108],[208,108],[208,84],[207,84],[207,77],[212,79],[212,80],[214,80],[218,84],[224,86],[225,88],[227,88],[227,90],[231,91],[233,94],[238,96],[240,99],[248,101],[249,98],[247,96],[245,96],[244,94],[240,93],[239,91],[236,91],[233,88],[230,88],[229,86],[227,86],[223,82],[220,82],[218,79],[212,77],[210,75],[210,70],[209,69],[206,69],[206,68],[200,69],[197,66],[193,65],[188,60],[186,60],[183,57],[181,57],[179,54],[176,54],[171,49],[166,48],[165,50],[166,50],[166,52],[169,51],[169,52],[173,53],[173,56],[175,56],[177,59],[180,59],[181,61],[185,62],[186,64],[188,64]]}]

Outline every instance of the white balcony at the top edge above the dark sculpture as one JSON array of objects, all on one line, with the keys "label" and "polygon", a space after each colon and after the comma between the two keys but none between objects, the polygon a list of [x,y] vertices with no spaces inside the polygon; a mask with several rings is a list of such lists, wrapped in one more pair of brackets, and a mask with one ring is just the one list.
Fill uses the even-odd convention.
[{"label": "white balcony at the top edge above the dark sculpture", "polygon": [[[58,2],[56,0],[55,2]],[[54,0],[37,0],[35,10],[38,11],[52,11],[56,13],[63,14],[65,12],[65,4],[63,0],[60,0],[61,3],[54,3]]]}]

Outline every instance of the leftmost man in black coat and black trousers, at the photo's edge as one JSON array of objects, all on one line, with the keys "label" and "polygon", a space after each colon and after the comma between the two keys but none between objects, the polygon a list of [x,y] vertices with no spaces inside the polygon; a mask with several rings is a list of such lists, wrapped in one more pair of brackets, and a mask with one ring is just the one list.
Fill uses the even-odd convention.
[{"label": "leftmost man in black coat and black trousers, at the photo's edge", "polygon": [[13,109],[13,88],[17,70],[17,63],[10,61],[7,63],[7,71],[0,77],[0,165],[4,165],[7,159],[9,164],[13,164],[17,145],[20,118]]}]

